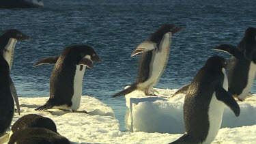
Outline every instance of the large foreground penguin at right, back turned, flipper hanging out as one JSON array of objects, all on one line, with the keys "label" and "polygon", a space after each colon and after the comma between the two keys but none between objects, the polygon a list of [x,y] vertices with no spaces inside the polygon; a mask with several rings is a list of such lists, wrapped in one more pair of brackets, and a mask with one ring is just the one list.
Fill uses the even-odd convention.
[{"label": "large foreground penguin at right, back turned, flipper hanging out", "polygon": [[227,91],[227,61],[210,57],[190,83],[184,100],[185,134],[171,144],[211,143],[221,128],[227,105],[238,117],[240,107]]}]

